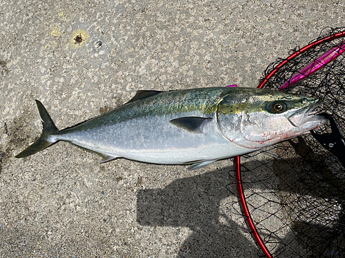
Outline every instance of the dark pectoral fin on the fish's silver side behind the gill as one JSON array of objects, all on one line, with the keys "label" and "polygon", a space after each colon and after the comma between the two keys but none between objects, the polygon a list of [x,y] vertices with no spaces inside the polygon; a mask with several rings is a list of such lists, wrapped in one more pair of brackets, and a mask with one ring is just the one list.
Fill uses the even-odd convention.
[{"label": "dark pectoral fin on the fish's silver side behind the gill", "polygon": [[190,133],[203,133],[203,127],[210,122],[212,118],[198,118],[196,116],[186,116],[183,118],[172,119],[169,122]]}]

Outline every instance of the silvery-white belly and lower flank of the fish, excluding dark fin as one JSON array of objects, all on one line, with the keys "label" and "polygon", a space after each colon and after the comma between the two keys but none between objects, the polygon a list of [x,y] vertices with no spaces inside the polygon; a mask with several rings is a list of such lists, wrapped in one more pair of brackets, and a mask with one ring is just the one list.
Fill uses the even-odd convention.
[{"label": "silvery-white belly and lower flank of the fish, excluding dark fin", "polygon": [[[195,115],[201,116],[188,114]],[[208,115],[213,120],[203,128],[203,133],[190,133],[170,124],[170,120],[181,116],[186,115],[142,117],[51,137],[91,151],[156,164],[219,160],[254,151],[224,138],[213,114]]]}]

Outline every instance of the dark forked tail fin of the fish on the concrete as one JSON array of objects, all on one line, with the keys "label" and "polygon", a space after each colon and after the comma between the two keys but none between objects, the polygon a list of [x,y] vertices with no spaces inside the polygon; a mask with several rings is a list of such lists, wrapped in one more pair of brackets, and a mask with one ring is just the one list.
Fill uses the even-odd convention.
[{"label": "dark forked tail fin of the fish on the concrete", "polygon": [[48,142],[48,136],[54,133],[58,133],[59,129],[55,126],[54,122],[52,122],[52,118],[50,118],[46,107],[36,100],[37,107],[39,108],[39,114],[41,115],[43,130],[41,136],[37,139],[36,142],[32,143],[28,148],[24,149],[16,155],[16,158],[25,158],[34,153],[41,151],[42,149],[46,149],[51,144],[55,142]]}]

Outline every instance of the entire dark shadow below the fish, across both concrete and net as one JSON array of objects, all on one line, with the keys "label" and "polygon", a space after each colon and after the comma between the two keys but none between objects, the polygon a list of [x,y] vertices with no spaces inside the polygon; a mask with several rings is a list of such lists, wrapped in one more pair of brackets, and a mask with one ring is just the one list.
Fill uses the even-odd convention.
[{"label": "entire dark shadow below the fish, across both concrete and net", "polygon": [[[302,152],[314,155],[305,145],[299,145],[298,148],[293,146],[301,155]],[[308,195],[317,199],[336,198],[343,202],[344,178],[337,177],[324,162],[313,157],[308,158],[306,155],[302,157],[279,160],[271,158],[270,162],[273,162],[273,165],[267,166],[255,160],[254,156],[244,164],[247,167],[242,173],[245,187],[262,189],[265,192],[275,181],[277,188],[273,189],[273,193],[277,194],[278,200],[282,203],[286,202],[282,198],[290,194],[292,197]],[[308,159],[313,162],[309,162],[307,166]],[[273,169],[269,169],[270,167]],[[142,226],[186,227],[193,230],[179,249],[177,257],[180,258],[263,257],[262,251],[244,237],[243,228],[220,212],[221,200],[236,195],[236,192],[233,166],[181,178],[168,184],[164,189],[144,189],[137,193],[137,222]],[[294,200],[290,202],[293,204]],[[293,208],[294,206],[291,207],[292,213]],[[225,218],[226,224],[220,223],[219,217]],[[341,236],[344,233],[344,219],[345,216],[341,216],[337,226],[303,221],[290,222],[287,226],[292,230],[282,239],[279,240],[274,232],[264,231],[262,236],[265,238],[264,241],[277,241],[275,252],[281,257],[299,257],[304,253],[304,250],[297,250],[300,247],[309,250],[312,248],[313,254],[317,256],[328,253],[326,257],[338,257],[336,255],[344,254],[342,244],[338,243],[335,246],[335,242],[344,243],[344,237]],[[259,224],[257,226],[261,227]],[[314,239],[323,241],[321,244],[314,243]],[[299,245],[296,250],[295,245],[290,245],[293,240]],[[308,253],[308,250],[306,252]],[[336,255],[330,255],[333,253]]]}]

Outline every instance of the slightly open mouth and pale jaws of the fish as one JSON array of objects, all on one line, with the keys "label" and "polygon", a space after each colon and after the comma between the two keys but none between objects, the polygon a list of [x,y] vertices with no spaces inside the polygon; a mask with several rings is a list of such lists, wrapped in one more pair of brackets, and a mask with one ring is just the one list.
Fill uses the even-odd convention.
[{"label": "slightly open mouth and pale jaws of the fish", "polygon": [[308,105],[302,109],[299,109],[295,113],[286,116],[286,118],[294,127],[303,127],[304,125],[309,125],[307,127],[311,128],[308,129],[314,129],[315,127],[324,125],[326,122],[328,122],[328,120],[324,116],[317,116],[315,114],[311,114],[311,112],[316,107],[319,107],[319,105],[321,105],[322,103],[322,100],[318,100],[316,103]]}]

